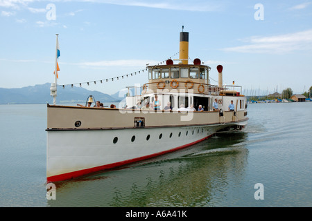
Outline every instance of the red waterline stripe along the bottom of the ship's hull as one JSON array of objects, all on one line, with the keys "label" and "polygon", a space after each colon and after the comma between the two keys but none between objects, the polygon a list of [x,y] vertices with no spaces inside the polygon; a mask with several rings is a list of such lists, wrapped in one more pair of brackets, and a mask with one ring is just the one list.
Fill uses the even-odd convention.
[{"label": "red waterline stripe along the bottom of the ship's hull", "polygon": [[175,148],[170,149],[168,151],[162,151],[162,152],[158,152],[158,153],[153,153],[153,154],[150,154],[150,155],[146,155],[144,157],[137,157],[137,158],[134,158],[134,159],[124,160],[124,161],[116,162],[116,163],[113,163],[113,164],[106,164],[106,165],[103,165],[103,166],[96,166],[96,167],[92,167],[92,168],[84,169],[84,170],[80,170],[80,171],[73,171],[73,172],[70,172],[70,173],[63,173],[63,174],[60,174],[60,175],[53,175],[51,177],[46,177],[46,182],[49,183],[49,182],[58,182],[58,181],[63,181],[63,180],[71,180],[73,178],[80,177],[82,175],[87,175],[89,173],[94,173],[94,172],[97,172],[97,171],[104,171],[104,170],[107,170],[107,169],[112,169],[112,168],[117,167],[117,166],[122,166],[122,165],[125,165],[125,164],[138,162],[138,161],[141,161],[141,160],[146,160],[148,158],[157,157],[157,156],[163,155],[165,153],[171,153],[173,151],[180,150],[180,149],[185,148],[187,146],[191,146],[193,144],[197,144],[199,142],[202,142],[203,140],[208,139],[211,136],[212,135],[209,135],[208,137],[204,137],[204,138],[202,138],[200,140],[197,140],[195,142],[192,142],[190,144],[185,144],[185,145],[182,145],[182,146],[178,146],[178,147],[175,147]]}]

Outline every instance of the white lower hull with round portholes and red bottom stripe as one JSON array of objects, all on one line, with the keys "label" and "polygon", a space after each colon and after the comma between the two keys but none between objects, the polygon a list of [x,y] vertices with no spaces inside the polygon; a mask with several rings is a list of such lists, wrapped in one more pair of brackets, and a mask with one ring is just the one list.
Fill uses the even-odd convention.
[{"label": "white lower hull with round portholes and red bottom stripe", "polygon": [[47,181],[69,180],[87,173],[112,169],[176,151],[207,139],[225,126],[229,124],[48,131]]}]

